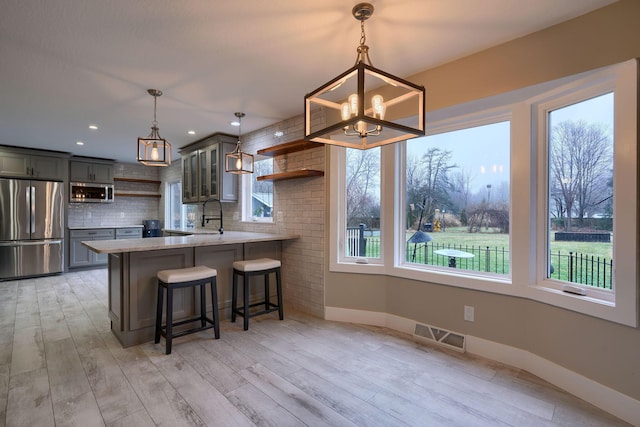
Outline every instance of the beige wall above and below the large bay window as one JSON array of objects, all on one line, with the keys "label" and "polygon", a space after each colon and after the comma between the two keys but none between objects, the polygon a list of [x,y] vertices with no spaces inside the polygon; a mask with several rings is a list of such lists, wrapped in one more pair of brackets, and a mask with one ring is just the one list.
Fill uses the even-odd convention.
[{"label": "beige wall above and below the large bay window", "polygon": [[[622,0],[409,80],[426,86],[427,109],[437,110],[622,62],[640,57],[639,17],[640,1]],[[327,306],[383,311],[517,347],[640,400],[638,329],[516,297],[326,269]],[[463,321],[464,305],[475,307],[474,323]]]}]

